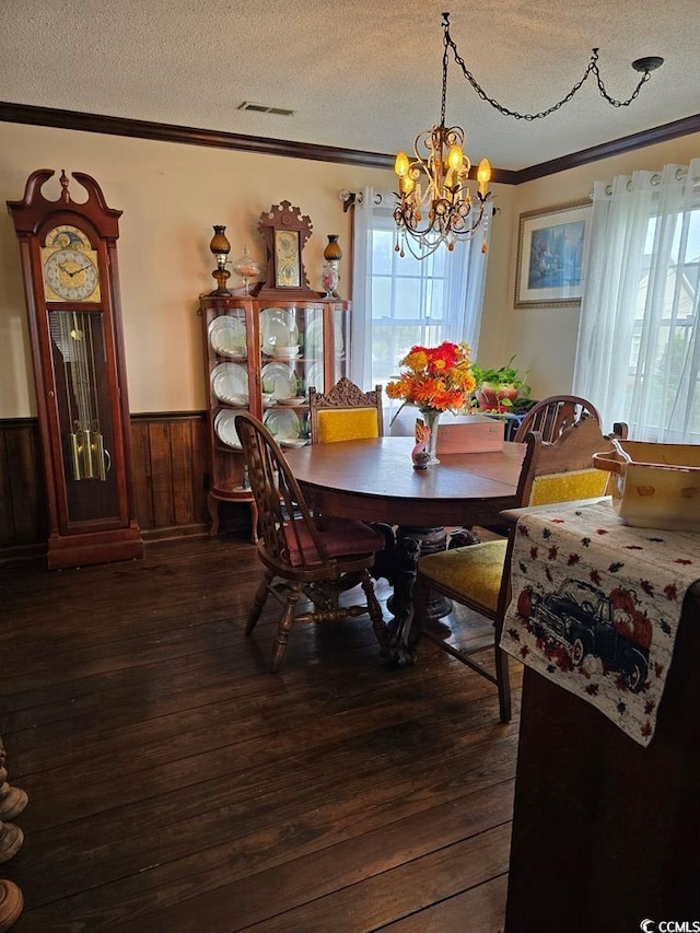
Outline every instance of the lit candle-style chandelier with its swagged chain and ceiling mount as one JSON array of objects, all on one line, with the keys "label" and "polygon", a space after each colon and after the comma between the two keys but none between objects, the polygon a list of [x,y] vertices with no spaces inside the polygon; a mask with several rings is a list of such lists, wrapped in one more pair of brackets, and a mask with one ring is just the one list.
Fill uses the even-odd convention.
[{"label": "lit candle-style chandelier with its swagged chain and ceiling mount", "polygon": [[447,53],[452,48],[455,61],[460,66],[465,78],[482,101],[491,104],[501,114],[515,119],[535,120],[549,116],[558,110],[574,96],[584,81],[594,74],[600,96],[615,107],[627,107],[639,94],[642,84],[649,81],[651,72],[655,71],[664,59],[656,56],[640,58],[632,62],[632,68],[642,73],[637,88],[627,101],[611,97],[603,83],[598,70],[598,49],[594,48],[588,67],[581,80],[561,101],[546,110],[537,114],[518,114],[489,97],[464,60],[457,53],[457,47],[450,35],[450,13],[443,13],[443,46],[442,56],[442,103],[440,124],[432,129],[419,132],[413,142],[415,159],[411,161],[406,152],[396,155],[394,171],[398,175],[397,203],[394,209],[396,238],[394,248],[405,256],[405,247],[417,259],[432,255],[443,244],[450,252],[462,240],[470,240],[477,231],[483,234],[481,252],[487,250],[487,233],[491,215],[491,165],[488,159],[482,159],[476,172],[477,188],[471,190],[467,184],[471,162],[464,152],[465,132],[460,127],[445,126],[445,107],[447,103]]}]

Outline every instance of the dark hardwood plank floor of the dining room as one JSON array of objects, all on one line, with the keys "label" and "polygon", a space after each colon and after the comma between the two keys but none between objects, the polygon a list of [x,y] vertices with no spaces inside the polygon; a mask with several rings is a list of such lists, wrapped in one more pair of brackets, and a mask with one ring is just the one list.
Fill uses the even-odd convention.
[{"label": "dark hardwood plank floor of the dining room", "polygon": [[502,929],[520,669],[508,726],[429,642],[384,666],[366,617],[295,629],[271,675],[259,575],[233,538],[0,567],[13,933]]}]

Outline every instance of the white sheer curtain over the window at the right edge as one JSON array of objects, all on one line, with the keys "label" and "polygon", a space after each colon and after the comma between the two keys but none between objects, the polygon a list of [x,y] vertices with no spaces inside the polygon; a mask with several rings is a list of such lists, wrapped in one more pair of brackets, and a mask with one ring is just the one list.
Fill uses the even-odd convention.
[{"label": "white sheer curtain over the window at the right edge", "polygon": [[605,430],[700,442],[700,159],[596,183],[573,378]]}]

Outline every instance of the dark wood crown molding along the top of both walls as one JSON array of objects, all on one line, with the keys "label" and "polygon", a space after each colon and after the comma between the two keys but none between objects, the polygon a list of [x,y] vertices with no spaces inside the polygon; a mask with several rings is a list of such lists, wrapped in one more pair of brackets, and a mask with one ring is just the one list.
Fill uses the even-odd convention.
[{"label": "dark wood crown molding along the top of both walls", "polygon": [[[161,142],[180,142],[186,145],[207,145],[215,149],[232,149],[244,152],[260,152],[266,155],[283,155],[290,159],[311,159],[316,162],[336,162],[343,165],[360,165],[366,168],[393,168],[394,155],[381,152],[363,152],[355,149],[340,149],[332,145],[317,145],[307,142],[293,142],[284,139],[269,139],[261,136],[244,136],[235,132],[182,127],[172,124],[159,124],[150,120],[131,120],[124,117],[108,117],[103,114],[84,114],[78,110],[60,110],[52,107],[35,107],[28,104],[0,102],[0,121],[30,124],[33,126],[56,127],[59,129],[100,132],[108,136],[126,136],[138,139],[151,139]],[[645,145],[666,142],[680,136],[700,132],[700,114],[674,120],[660,127],[615,139],[610,142],[593,145],[580,152],[572,152],[549,162],[540,162],[528,168],[493,168],[491,180],[501,185],[522,185],[576,168],[590,162],[620,155]],[[474,170],[472,170],[474,174]]]}]

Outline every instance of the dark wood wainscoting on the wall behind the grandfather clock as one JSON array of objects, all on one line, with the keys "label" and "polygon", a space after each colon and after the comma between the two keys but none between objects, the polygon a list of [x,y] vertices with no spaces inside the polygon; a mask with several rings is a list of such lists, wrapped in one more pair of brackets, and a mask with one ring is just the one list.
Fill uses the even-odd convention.
[{"label": "dark wood wainscoting on the wall behind the grandfather clock", "polygon": [[[203,411],[131,416],[133,504],[147,540],[208,533],[207,451]],[[222,510],[221,527],[243,529],[248,511]],[[42,555],[46,523],[38,422],[0,419],[0,560]]]}]

